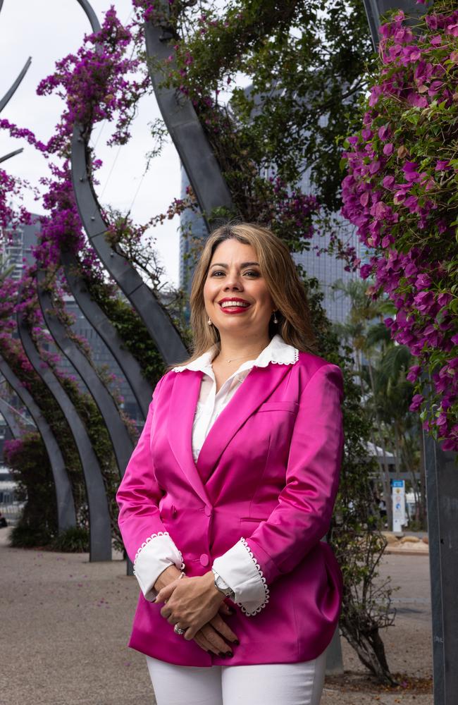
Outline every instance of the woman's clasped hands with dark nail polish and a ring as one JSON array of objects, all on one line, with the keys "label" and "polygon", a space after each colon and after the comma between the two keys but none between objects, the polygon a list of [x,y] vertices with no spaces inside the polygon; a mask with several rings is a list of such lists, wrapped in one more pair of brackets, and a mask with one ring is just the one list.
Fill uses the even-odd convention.
[{"label": "woman's clasped hands with dark nail polish and a ring", "polygon": [[173,580],[159,590],[155,602],[164,603],[161,615],[171,625],[178,623],[185,630],[185,639],[194,639],[204,651],[232,656],[224,639],[238,642],[233,630],[221,618],[221,614],[231,613],[223,600],[224,595],[216,589],[213,573],[209,571],[202,577]]}]

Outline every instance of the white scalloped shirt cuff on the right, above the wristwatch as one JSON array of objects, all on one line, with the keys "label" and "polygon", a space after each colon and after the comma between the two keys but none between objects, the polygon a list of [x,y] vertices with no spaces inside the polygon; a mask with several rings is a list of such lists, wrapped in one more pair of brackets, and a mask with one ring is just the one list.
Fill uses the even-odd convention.
[{"label": "white scalloped shirt cuff on the right, above the wristwatch", "polygon": [[235,592],[234,602],[249,617],[268,603],[268,586],[247,541],[240,541],[213,561],[213,568]]}]

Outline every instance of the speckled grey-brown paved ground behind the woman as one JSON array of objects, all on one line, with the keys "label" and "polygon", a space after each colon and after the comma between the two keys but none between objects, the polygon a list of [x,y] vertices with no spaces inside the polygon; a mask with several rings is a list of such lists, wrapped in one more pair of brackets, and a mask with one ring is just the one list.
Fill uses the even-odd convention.
[{"label": "speckled grey-brown paved ground behind the woman", "polygon": [[[0,529],[0,705],[155,705],[144,656],[126,646],[138,589],[125,563],[10,548],[8,530]],[[382,572],[400,586],[395,627],[383,634],[390,668],[431,675],[428,557],[386,556]],[[345,671],[364,671],[342,647]],[[432,702],[328,683],[321,705]]]}]

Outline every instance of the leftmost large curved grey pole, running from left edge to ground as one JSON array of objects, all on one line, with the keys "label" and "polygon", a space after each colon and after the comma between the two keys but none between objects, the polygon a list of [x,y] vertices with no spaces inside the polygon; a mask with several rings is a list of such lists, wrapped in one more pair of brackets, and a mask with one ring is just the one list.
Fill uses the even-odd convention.
[{"label": "leftmost large curved grey pole, running from left edge to ground", "polygon": [[35,421],[40,436],[42,436],[44,447],[47,450],[51,472],[54,478],[57,501],[57,527],[58,531],[70,529],[76,525],[75,503],[73,501],[72,486],[67,474],[65,460],[61,449],[58,447],[56,438],[51,431],[47,420],[35,402],[29,391],[9,366],[4,357],[0,356],[0,372],[8,384],[16,392],[22,403],[27,407],[30,416]]}]

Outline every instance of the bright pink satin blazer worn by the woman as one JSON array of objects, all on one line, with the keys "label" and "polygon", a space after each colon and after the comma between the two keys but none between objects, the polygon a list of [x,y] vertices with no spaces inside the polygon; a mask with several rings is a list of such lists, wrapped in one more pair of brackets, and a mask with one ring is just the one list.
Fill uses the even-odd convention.
[{"label": "bright pink satin blazer worn by the woman", "polygon": [[156,385],[117,494],[125,548],[134,560],[148,537],[168,532],[194,576],[245,537],[269,600],[255,615],[235,606],[225,618],[240,639],[230,663],[176,635],[161,605],[142,594],[129,646],[184,666],[316,658],[333,636],[342,599],[340,568],[321,541],[342,460],[342,372],[309,353],[294,364],[254,367],[196,465],[192,422],[202,375],[171,371]]}]

